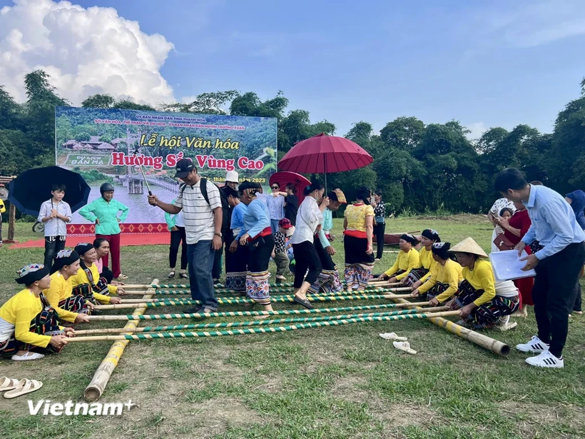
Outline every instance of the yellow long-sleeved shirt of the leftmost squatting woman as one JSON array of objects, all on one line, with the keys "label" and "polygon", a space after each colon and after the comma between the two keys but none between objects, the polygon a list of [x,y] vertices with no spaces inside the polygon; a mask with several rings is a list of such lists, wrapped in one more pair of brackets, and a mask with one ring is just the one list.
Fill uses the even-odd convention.
[{"label": "yellow long-sleeved shirt of the leftmost squatting woman", "polygon": [[[16,340],[46,348],[51,341],[51,336],[31,332],[31,321],[42,310],[41,298],[35,296],[29,288],[9,298],[9,301],[0,308],[0,341],[8,340],[14,330]],[[55,308],[55,311],[60,318],[67,320],[61,312],[63,310]]]}]

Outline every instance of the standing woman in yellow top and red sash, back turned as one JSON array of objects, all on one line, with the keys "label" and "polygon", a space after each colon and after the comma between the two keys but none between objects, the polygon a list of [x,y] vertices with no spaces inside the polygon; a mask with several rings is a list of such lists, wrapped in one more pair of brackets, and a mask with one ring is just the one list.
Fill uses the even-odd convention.
[{"label": "standing woman in yellow top and red sash, back turned", "polygon": [[374,208],[370,206],[372,193],[362,187],[356,201],[345,208],[343,220],[345,248],[345,286],[347,291],[366,288],[374,268]]}]

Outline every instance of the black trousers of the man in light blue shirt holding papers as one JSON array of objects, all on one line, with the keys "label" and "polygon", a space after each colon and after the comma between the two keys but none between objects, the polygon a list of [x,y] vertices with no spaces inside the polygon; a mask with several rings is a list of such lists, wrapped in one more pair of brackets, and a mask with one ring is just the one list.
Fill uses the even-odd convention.
[{"label": "black trousers of the man in light blue shirt holding papers", "polygon": [[561,356],[569,332],[569,313],[573,311],[584,262],[585,242],[566,246],[535,268],[532,300],[538,335],[544,343],[550,343],[551,354],[556,357]]}]

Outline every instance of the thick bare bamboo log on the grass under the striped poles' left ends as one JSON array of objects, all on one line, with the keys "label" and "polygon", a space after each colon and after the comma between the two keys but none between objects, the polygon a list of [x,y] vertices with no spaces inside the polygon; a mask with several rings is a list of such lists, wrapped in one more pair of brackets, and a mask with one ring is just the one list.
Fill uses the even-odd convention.
[{"label": "thick bare bamboo log on the grass under the striped poles' left ends", "polygon": [[[158,283],[158,279],[153,281],[153,285]],[[151,288],[149,292],[144,296],[144,298],[152,298],[155,289]],[[137,306],[133,312],[134,316],[142,316],[144,311],[146,311],[146,306]],[[94,316],[96,317],[96,316]],[[138,326],[139,321],[134,319],[128,319],[128,323],[124,326],[127,329],[133,329]],[[108,355],[104,358],[99,365],[96,373],[93,374],[93,378],[91,378],[90,383],[86,387],[86,390],[83,392],[83,397],[88,401],[96,401],[98,400],[103,390],[108,385],[108,381],[113,373],[113,370],[118,365],[118,361],[122,357],[124,353],[124,349],[126,349],[126,345],[128,345],[128,340],[116,340],[116,343],[113,343],[110,350],[108,350]]]}]

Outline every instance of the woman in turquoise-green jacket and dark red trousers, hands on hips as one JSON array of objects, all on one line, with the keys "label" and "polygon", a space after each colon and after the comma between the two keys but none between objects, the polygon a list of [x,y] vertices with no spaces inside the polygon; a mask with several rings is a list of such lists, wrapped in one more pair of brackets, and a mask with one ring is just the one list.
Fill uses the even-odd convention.
[{"label": "woman in turquoise-green jacket and dark red trousers, hands on hips", "polygon": [[[106,238],[110,243],[113,277],[127,279],[120,268],[120,226],[128,216],[128,207],[113,199],[113,185],[103,183],[100,186],[101,197],[84,206],[79,214],[86,220],[96,223],[96,238]],[[118,212],[122,212],[118,217]],[[108,266],[108,255],[102,258],[103,266]]]}]

